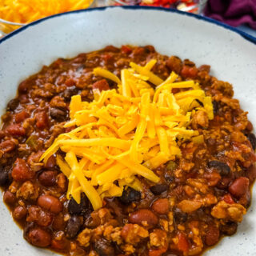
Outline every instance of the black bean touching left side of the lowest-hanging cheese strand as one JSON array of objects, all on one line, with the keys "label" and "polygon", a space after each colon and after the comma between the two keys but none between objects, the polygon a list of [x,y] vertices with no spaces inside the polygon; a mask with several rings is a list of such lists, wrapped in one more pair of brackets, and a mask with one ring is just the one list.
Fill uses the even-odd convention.
[{"label": "black bean touching left side of the lowest-hanging cheese strand", "polygon": [[71,198],[67,208],[70,214],[84,215],[91,211],[91,204],[86,195],[81,194],[81,202],[78,204],[74,198]]}]

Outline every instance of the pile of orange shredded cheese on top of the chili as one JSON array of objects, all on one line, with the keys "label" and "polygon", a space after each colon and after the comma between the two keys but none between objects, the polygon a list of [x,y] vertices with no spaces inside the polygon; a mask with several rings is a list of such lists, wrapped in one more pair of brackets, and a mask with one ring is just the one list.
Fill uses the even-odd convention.
[{"label": "pile of orange shredded cheese on top of the chili", "polygon": [[[84,192],[97,210],[102,198],[121,196],[126,186],[142,190],[138,176],[158,182],[152,170],[181,156],[183,140],[203,141],[186,126],[192,109],[214,118],[211,98],[194,81],[175,82],[174,72],[163,81],[150,71],[155,63],[131,62],[130,69],[121,71],[121,80],[96,68],[94,74],[116,82],[118,90],[94,90],[93,102],[82,102],[80,95],[71,99],[65,126],[76,128],[59,135],[42,155],[47,162],[59,149],[66,154],[62,158],[57,153],[57,163],[69,180],[67,198],[79,203]],[[172,94],[174,88],[181,90]]]}]

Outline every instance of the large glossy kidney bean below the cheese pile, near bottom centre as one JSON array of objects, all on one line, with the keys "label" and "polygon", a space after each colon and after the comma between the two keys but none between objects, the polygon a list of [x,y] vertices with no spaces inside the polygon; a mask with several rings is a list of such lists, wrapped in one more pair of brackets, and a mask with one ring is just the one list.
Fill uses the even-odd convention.
[{"label": "large glossy kidney bean below the cheese pile, near bottom centre", "polygon": [[151,210],[141,209],[130,214],[129,222],[134,224],[142,224],[142,222],[147,222],[150,226],[155,226],[158,224],[158,217]]}]

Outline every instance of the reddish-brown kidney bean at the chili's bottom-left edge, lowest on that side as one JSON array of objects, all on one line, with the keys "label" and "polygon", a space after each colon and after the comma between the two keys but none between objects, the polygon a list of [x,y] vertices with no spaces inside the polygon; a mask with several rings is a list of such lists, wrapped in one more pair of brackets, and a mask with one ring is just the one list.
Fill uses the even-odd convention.
[{"label": "reddish-brown kidney bean at the chili's bottom-left edge, lowest on that side", "polygon": [[50,242],[51,242],[50,233],[47,232],[46,230],[42,230],[39,227],[30,230],[27,238],[28,238],[28,241],[33,246],[38,246],[38,247],[50,246]]}]

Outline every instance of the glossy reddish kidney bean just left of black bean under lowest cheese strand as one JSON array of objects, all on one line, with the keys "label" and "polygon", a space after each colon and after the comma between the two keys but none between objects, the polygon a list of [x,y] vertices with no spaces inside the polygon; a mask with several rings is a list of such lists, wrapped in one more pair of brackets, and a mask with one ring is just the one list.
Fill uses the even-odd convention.
[{"label": "glossy reddish kidney bean just left of black bean under lowest cheese strand", "polygon": [[63,205],[62,202],[58,200],[58,198],[54,198],[51,195],[41,195],[38,198],[38,206],[46,210],[50,210],[50,212],[54,214],[58,214],[62,211]]}]

